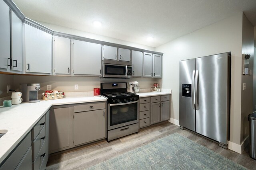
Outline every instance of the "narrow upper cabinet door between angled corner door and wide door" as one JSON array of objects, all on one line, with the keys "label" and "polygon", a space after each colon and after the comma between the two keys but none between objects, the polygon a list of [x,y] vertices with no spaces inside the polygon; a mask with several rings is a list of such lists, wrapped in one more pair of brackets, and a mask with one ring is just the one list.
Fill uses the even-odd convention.
[{"label": "narrow upper cabinet door between angled corner door and wide door", "polygon": [[53,37],[53,61],[55,74],[70,74],[70,39]]}]

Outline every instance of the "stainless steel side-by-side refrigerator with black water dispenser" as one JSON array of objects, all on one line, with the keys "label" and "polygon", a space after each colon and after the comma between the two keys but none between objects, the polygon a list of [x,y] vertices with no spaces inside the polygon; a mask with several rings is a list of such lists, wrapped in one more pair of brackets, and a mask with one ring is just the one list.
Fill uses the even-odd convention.
[{"label": "stainless steel side-by-side refrigerator with black water dispenser", "polygon": [[180,61],[180,127],[227,148],[231,53]]}]

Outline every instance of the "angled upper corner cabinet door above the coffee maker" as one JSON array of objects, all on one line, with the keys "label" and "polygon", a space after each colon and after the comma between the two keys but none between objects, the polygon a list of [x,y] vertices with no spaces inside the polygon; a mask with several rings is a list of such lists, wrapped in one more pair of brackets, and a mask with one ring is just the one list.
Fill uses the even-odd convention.
[{"label": "angled upper corner cabinet door above the coffee maker", "polygon": [[25,71],[52,72],[52,35],[25,24]]}]

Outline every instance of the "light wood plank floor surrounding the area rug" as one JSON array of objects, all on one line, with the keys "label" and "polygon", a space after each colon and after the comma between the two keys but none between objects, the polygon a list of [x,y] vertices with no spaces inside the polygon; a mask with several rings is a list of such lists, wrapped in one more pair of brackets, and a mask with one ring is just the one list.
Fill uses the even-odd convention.
[{"label": "light wood plank floor surrounding the area rug", "polygon": [[223,149],[219,147],[218,144],[191,133],[190,131],[182,130],[180,127],[168,121],[140,129],[138,134],[134,133],[110,141],[110,143],[102,140],[97,143],[51,154],[46,169],[85,169],[172,133],[179,133],[248,169],[256,169],[256,160],[249,156],[249,145],[242,154],[238,154],[232,150]]}]

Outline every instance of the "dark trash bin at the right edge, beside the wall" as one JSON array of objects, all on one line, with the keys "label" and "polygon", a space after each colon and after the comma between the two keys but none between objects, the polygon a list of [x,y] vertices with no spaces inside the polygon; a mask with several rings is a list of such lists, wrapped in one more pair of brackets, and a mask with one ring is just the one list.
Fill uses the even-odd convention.
[{"label": "dark trash bin at the right edge, beside the wall", "polygon": [[256,159],[256,113],[249,115],[250,123],[250,157]]}]

